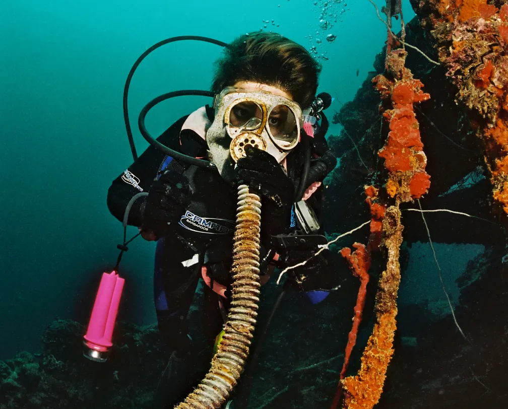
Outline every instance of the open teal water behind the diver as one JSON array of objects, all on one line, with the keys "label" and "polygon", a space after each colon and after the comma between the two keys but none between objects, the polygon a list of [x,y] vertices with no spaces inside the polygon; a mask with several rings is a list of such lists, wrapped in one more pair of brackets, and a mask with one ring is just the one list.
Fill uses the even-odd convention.
[{"label": "open teal water behind the diver", "polygon": [[[324,32],[321,3],[2,2],[0,358],[37,350],[46,325],[57,316],[72,317],[75,300],[116,260],[122,231],[106,208],[106,193],[132,160],[122,91],[137,57],[172,36],[229,42],[273,19],[279,26],[269,23],[267,29],[308,48],[320,45],[305,36],[321,37],[319,48],[329,59],[322,60],[320,91],[345,103],[372,70],[386,30],[370,3],[343,2],[345,12]],[[340,13],[342,7],[337,9]],[[406,9],[408,21],[412,11]],[[337,36],[334,43],[325,41],[327,33]],[[129,95],[138,152],[147,146],[136,127],[141,108],[171,90],[208,89],[219,55],[217,46],[182,42],[157,50],[141,64]],[[147,126],[157,134],[207,102],[196,97],[166,101],[150,113]],[[331,132],[339,129],[332,125]],[[123,311],[138,323],[152,322],[153,246],[137,241],[122,263],[130,293]]]}]

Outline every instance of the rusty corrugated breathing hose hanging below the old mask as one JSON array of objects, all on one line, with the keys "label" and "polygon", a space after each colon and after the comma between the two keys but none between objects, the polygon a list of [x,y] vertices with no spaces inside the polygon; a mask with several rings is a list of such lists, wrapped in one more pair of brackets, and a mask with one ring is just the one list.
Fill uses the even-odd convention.
[{"label": "rusty corrugated breathing hose hanging below the old mask", "polygon": [[225,334],[212,358],[211,368],[194,392],[177,409],[219,409],[243,372],[259,306],[259,251],[261,199],[238,186],[236,228],[233,237],[233,291]]}]

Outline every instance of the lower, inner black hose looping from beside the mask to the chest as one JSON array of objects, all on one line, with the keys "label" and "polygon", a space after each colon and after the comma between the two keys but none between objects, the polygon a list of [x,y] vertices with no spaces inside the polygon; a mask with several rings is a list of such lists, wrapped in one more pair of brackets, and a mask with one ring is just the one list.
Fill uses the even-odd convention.
[{"label": "lower, inner black hose looping from beside the mask to the chest", "polygon": [[186,163],[190,163],[196,166],[201,167],[212,167],[215,168],[215,165],[212,162],[209,162],[208,160],[203,159],[196,159],[192,156],[184,155],[183,153],[177,152],[171,148],[168,148],[166,145],[161,144],[156,139],[154,139],[146,130],[145,126],[145,117],[149,110],[151,110],[155,105],[158,103],[169,99],[174,98],[175,96],[182,96],[182,95],[201,95],[201,96],[214,96],[215,94],[211,91],[200,91],[197,89],[184,89],[181,91],[172,91],[168,92],[166,94],[157,96],[156,98],[153,98],[148,104],[145,105],[145,107],[141,110],[138,118],[138,126],[139,131],[143,135],[143,138],[148,141],[148,143],[158,150],[164,152],[165,154],[175,158],[180,159]]}]

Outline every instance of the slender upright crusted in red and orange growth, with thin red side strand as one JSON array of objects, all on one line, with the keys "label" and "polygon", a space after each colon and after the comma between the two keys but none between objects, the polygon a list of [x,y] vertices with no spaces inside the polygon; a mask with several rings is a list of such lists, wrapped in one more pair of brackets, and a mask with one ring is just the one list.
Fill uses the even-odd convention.
[{"label": "slender upright crusted in red and orange growth, with thin red side strand", "polygon": [[[430,187],[430,176],[425,172],[427,158],[423,152],[419,124],[413,107],[415,103],[429,99],[430,95],[421,90],[422,82],[414,79],[410,70],[405,68],[406,51],[392,50],[389,47],[387,50],[390,51],[387,51],[385,59],[386,72],[373,78],[372,82],[382,97],[380,112],[390,125],[387,142],[379,150],[378,156],[385,159],[388,170],[385,188],[388,196],[395,198],[395,204],[387,208],[386,203],[379,203],[378,189],[374,186],[365,187],[366,202],[371,211],[371,235],[367,251],[370,251],[371,246],[374,249],[379,245],[385,247],[388,253],[387,267],[378,283],[376,321],[363,352],[361,368],[356,376],[343,379],[350,349],[356,340],[358,328],[355,324],[359,324],[361,314],[357,313],[358,302],[355,307],[353,329],[350,332],[350,342],[347,343],[339,390],[334,397],[332,408],[336,407],[340,399],[340,386],[344,390],[344,409],[372,408],[383,392],[386,371],[393,355],[397,292],[400,284],[399,253],[403,226],[399,204],[420,198]],[[358,243],[355,243],[354,247],[357,251],[365,249]],[[361,277],[358,265],[355,268],[354,260],[348,258],[351,257],[351,250],[343,249],[341,253],[350,261],[354,274]],[[358,255],[361,255],[361,252]],[[359,301],[362,301],[362,289],[363,287],[358,295]]]}]

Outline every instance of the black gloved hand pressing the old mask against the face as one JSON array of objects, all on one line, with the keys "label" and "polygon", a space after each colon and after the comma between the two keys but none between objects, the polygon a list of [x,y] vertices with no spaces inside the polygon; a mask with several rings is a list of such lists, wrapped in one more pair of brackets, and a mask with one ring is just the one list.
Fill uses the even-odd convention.
[{"label": "black gloved hand pressing the old mask against the face", "polygon": [[293,182],[268,152],[247,145],[245,153],[247,156],[236,162],[235,177],[237,181],[248,183],[253,192],[262,195],[263,241],[269,240],[271,235],[287,233],[295,196]]}]

